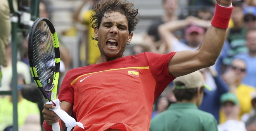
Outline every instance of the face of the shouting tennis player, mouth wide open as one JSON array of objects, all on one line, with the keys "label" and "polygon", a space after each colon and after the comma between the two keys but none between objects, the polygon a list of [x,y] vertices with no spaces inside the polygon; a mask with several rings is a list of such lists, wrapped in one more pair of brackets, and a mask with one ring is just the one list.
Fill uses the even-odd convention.
[{"label": "face of the shouting tennis player, mouth wide open", "polygon": [[99,29],[95,29],[95,38],[101,57],[121,58],[125,51],[126,43],[131,42],[132,33],[129,35],[128,21],[120,12],[105,13]]}]

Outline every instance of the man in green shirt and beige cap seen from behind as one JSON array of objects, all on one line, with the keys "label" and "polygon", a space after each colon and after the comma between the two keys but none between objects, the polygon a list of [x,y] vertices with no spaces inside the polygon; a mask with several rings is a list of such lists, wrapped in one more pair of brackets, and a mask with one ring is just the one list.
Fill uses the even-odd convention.
[{"label": "man in green shirt and beige cap seen from behind", "polygon": [[199,71],[177,77],[173,91],[177,103],[157,115],[150,131],[218,131],[217,121],[210,113],[199,110],[203,98],[204,78]]}]

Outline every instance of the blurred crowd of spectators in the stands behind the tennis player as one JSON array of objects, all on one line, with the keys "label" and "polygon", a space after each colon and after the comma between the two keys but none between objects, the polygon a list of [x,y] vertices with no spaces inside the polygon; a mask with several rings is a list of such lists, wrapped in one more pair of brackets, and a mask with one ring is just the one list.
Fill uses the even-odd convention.
[{"label": "blurred crowd of spectators in the stands behind the tennis player", "polygon": [[[72,12],[73,21],[80,24],[79,27],[83,26],[82,35],[79,36],[78,40],[79,57],[72,57],[70,49],[62,44],[62,38],[59,38],[62,60],[61,78],[66,71],[72,68],[72,59],[85,61],[84,66],[87,66],[95,64],[100,56],[97,41],[92,40],[94,30],[90,27],[90,15],[93,13],[92,6],[98,1],[81,0],[79,7],[76,7]],[[135,40],[136,42],[128,45],[129,48],[126,50],[126,54],[136,55],[145,51],[166,54],[180,50],[196,50],[207,33],[208,27],[211,26],[215,0],[189,0],[187,4],[188,9],[193,10],[187,16],[183,16],[177,13],[180,6],[178,0],[162,0],[164,13],[161,17],[152,19],[145,32],[134,34],[140,40]],[[227,127],[234,128],[232,131],[236,131],[235,129],[239,129],[239,131],[254,131],[256,130],[256,68],[254,67],[256,65],[256,2],[255,0],[232,0],[232,4],[234,10],[220,56],[214,66],[200,70],[206,86],[211,91],[204,90],[202,103],[198,108],[214,116],[220,131],[225,131]],[[88,7],[86,10],[84,10],[85,6]],[[40,0],[39,7],[39,17],[46,17],[51,20],[50,9],[52,5],[50,1]],[[1,25],[2,23],[0,23],[0,27]],[[17,62],[19,91],[22,91],[22,88],[29,91],[36,88],[33,85],[33,78],[31,78],[29,71],[27,42],[28,34],[22,32],[21,40],[18,43]],[[6,64],[0,65],[3,76],[0,91],[9,91],[12,86],[10,43],[9,40],[6,45],[5,55],[3,55],[6,57]],[[61,83],[61,79],[59,81]],[[152,119],[176,102],[173,89],[173,83],[170,83],[163,94],[155,101]],[[33,98],[28,98],[28,93],[22,94],[21,92],[19,96],[18,112],[24,106],[27,107],[24,104],[24,98],[28,99],[26,101],[28,104],[37,104],[37,106],[29,106],[31,109],[26,109],[27,114],[22,113],[23,116],[19,117],[19,127],[26,126],[25,124],[27,121],[29,123],[31,115],[34,115],[32,118],[38,121],[30,121],[30,123],[42,125],[39,120],[39,109],[43,97],[41,100],[33,100]],[[11,96],[0,96],[0,102],[8,103],[8,105],[12,102],[10,99]],[[6,111],[3,111],[2,108]],[[0,106],[1,131],[3,129],[7,131],[12,126],[12,110],[10,108],[12,108],[11,105],[8,109],[6,106],[3,107],[3,104]],[[9,114],[6,113],[7,110]],[[21,113],[18,115],[20,116]],[[7,121],[6,118],[8,117],[10,119]]]}]

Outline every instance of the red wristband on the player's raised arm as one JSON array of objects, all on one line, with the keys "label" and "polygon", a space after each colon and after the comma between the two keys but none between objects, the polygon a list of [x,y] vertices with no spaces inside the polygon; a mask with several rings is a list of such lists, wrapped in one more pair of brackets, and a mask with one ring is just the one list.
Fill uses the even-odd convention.
[{"label": "red wristband on the player's raised arm", "polygon": [[217,28],[227,29],[233,8],[233,6],[221,7],[216,3],[215,12],[213,15],[213,19],[211,20],[211,24]]}]

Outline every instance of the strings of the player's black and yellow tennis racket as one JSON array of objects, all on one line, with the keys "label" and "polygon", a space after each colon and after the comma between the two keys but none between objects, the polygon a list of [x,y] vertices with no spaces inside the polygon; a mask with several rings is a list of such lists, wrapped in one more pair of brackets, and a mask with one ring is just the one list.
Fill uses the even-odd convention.
[{"label": "strings of the player's black and yellow tennis racket", "polygon": [[54,71],[55,71],[55,54],[52,33],[48,24],[41,21],[35,31],[33,38],[35,68],[38,73],[38,79],[42,83],[45,91],[51,91]]}]

